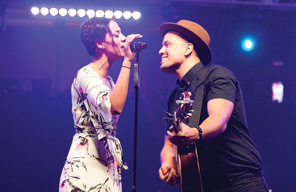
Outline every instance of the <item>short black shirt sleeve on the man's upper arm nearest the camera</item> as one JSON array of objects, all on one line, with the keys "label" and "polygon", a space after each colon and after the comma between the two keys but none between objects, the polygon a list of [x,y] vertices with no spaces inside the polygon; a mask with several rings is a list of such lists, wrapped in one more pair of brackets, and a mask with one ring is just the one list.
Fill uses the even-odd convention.
[{"label": "short black shirt sleeve on the man's upper arm nearest the camera", "polygon": [[237,80],[225,67],[213,66],[206,80],[207,100],[223,98],[235,102]]}]

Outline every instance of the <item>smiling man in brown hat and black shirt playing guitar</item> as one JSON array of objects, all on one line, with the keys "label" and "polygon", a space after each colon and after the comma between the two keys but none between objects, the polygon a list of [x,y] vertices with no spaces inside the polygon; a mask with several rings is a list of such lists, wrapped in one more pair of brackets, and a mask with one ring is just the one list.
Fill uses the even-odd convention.
[{"label": "smiling man in brown hat and black shirt playing guitar", "polygon": [[[159,51],[160,69],[178,77],[178,87],[168,99],[167,112],[174,114],[176,100],[183,92],[191,93],[192,107],[196,109],[195,96],[203,91],[199,99],[202,106],[189,120],[182,120],[179,132],[173,131],[171,122],[167,121],[160,154],[160,179],[170,185],[178,183],[174,147],[195,142],[203,192],[267,192],[260,155],[247,126],[237,79],[222,66],[203,66],[212,60],[208,33],[186,20],[177,24],[164,23],[159,31],[163,37]],[[190,123],[196,119],[199,121],[194,125]]]}]

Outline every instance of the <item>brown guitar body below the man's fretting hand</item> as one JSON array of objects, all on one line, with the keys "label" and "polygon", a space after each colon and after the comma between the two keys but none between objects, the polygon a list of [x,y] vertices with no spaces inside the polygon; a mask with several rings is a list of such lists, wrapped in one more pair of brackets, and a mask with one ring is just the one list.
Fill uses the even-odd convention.
[{"label": "brown guitar body below the man's fretting hand", "polygon": [[180,176],[179,191],[203,192],[195,143],[187,147],[175,146],[175,151],[177,175]]}]

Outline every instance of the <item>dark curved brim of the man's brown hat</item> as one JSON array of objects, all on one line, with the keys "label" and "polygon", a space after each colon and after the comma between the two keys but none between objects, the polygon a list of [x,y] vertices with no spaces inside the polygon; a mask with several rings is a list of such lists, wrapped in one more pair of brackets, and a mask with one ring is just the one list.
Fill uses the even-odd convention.
[{"label": "dark curved brim of the man's brown hat", "polygon": [[181,32],[187,37],[189,37],[190,39],[192,39],[197,44],[197,46],[200,48],[203,54],[200,58],[200,61],[202,62],[203,65],[207,65],[211,62],[212,60],[211,49],[207,45],[207,43],[205,43],[198,35],[196,35],[194,32],[191,32],[187,28],[175,23],[164,23],[159,27],[159,32],[162,38],[167,32],[170,32],[170,31]]}]

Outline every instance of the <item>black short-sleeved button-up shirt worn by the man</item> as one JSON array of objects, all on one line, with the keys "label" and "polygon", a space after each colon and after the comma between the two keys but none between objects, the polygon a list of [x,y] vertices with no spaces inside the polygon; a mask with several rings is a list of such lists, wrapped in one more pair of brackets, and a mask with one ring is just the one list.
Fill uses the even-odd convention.
[{"label": "black short-sleeved button-up shirt worn by the man", "polygon": [[[200,70],[207,70],[207,75],[199,124],[208,117],[209,100],[223,98],[234,104],[226,130],[213,139],[196,142],[203,185],[211,185],[215,181],[261,170],[260,155],[248,129],[240,86],[230,70],[219,65],[208,67],[203,67],[202,63],[194,65],[181,81],[177,80],[178,87],[168,99],[167,112],[174,114],[177,107],[176,100],[180,99],[184,91],[191,92],[190,99],[194,100],[196,85],[191,84]],[[188,120],[182,122],[188,125]],[[171,123],[167,121],[166,130],[169,130],[170,126]]]}]

